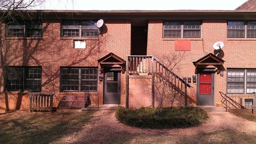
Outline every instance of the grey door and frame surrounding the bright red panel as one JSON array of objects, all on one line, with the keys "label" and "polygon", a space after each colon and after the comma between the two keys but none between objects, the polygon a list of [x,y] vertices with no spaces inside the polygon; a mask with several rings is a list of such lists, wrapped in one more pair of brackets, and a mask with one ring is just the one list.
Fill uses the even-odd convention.
[{"label": "grey door and frame surrounding the bright red panel", "polygon": [[[211,98],[211,102],[209,103],[200,103],[201,100],[199,100],[200,98],[200,74],[204,73],[204,72],[208,72],[211,74],[211,96],[209,96],[208,98]],[[215,103],[215,94],[214,94],[214,74],[215,74],[215,68],[206,68],[206,69],[198,69],[197,72],[197,87],[196,87],[196,105],[207,105],[207,106],[214,106]]]}]

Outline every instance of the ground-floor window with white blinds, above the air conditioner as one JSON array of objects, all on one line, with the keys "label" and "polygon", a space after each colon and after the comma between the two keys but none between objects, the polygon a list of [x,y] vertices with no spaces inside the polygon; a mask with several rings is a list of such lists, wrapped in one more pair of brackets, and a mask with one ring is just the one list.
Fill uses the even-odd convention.
[{"label": "ground-floor window with white blinds, above the air conditioner", "polygon": [[227,72],[227,93],[256,92],[256,70],[227,70]]}]

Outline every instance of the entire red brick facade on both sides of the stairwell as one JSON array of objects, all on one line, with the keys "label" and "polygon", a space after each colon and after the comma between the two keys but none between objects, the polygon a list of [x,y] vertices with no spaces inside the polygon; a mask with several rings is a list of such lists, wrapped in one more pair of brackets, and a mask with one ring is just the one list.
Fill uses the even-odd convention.
[{"label": "entire red brick facade on both sides of the stairwell", "polygon": [[[66,92],[60,92],[60,66],[100,67],[97,60],[110,52],[123,59],[126,59],[126,55],[130,55],[131,52],[131,20],[106,19],[99,38],[77,38],[86,40],[86,49],[73,48],[73,40],[76,38],[60,37],[60,22],[60,19],[48,19],[47,22],[43,23],[42,38],[7,39],[7,43],[10,45],[7,44],[4,48],[4,55],[9,66],[42,66],[41,93],[53,93],[54,106],[57,106],[59,100],[66,94]],[[215,104],[217,105],[222,99],[219,91],[226,93],[227,68],[256,68],[256,39],[227,38],[226,28],[227,21],[224,19],[205,19],[202,21],[201,38],[163,38],[163,20],[148,20],[147,55],[157,53],[161,55],[170,52],[179,54],[182,52],[175,51],[175,41],[190,41],[191,50],[184,52],[185,57],[178,63],[179,70],[177,69],[175,73],[181,78],[192,78],[192,76],[197,76],[192,61],[207,53],[217,54],[218,51],[213,49],[213,44],[216,41],[224,42],[222,52],[218,55],[225,61],[223,65],[224,76],[220,77],[215,72],[214,93]],[[132,107],[151,105],[151,102],[146,102],[146,99],[151,100],[149,88],[140,86],[140,92],[144,92],[143,94],[146,95],[144,102],[144,99],[138,97],[141,95],[140,92],[136,93],[131,89],[134,83],[139,83],[138,79],[129,81],[129,94],[131,94],[129,95],[129,104]],[[18,94],[5,92],[3,77],[0,78],[0,85],[0,113],[6,111],[6,109],[15,110],[27,107],[26,104],[14,100]],[[191,83],[191,86],[192,88],[187,90],[188,99],[190,103],[196,105],[197,84]],[[137,87],[134,87],[134,89],[137,89]],[[100,102],[103,102],[103,82],[98,82],[97,93]],[[27,92],[20,92],[20,94],[22,102],[24,100],[24,103],[27,103]],[[84,93],[76,92],[75,94]],[[132,101],[130,102],[130,100]],[[125,105],[125,74],[121,74],[121,105]]]}]

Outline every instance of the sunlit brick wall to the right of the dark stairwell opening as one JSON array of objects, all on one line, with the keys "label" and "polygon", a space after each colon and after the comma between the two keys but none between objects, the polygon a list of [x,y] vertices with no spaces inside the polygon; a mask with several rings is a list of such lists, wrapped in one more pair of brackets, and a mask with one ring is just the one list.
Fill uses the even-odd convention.
[{"label": "sunlit brick wall to the right of the dark stairwell opening", "polygon": [[[179,63],[179,70],[175,72],[178,76],[191,77],[195,74],[195,66],[192,61],[208,53],[217,54],[218,51],[213,49],[216,41],[224,42],[222,52],[218,55],[225,62],[223,65],[224,76],[221,77],[215,72],[215,105],[220,103],[222,97],[219,91],[226,93],[226,69],[227,68],[256,68],[255,46],[256,39],[232,39],[227,38],[226,20],[203,20],[202,21],[202,38],[183,38],[170,39],[163,38],[163,20],[149,20],[148,23],[148,55],[177,53],[175,51],[175,40],[191,41],[191,51],[185,51],[185,59]],[[161,53],[159,53],[161,52]],[[212,66],[208,66],[212,67]],[[215,69],[217,70],[217,68]],[[196,83],[190,83],[192,88],[188,89],[188,99],[193,105],[196,105]]]}]

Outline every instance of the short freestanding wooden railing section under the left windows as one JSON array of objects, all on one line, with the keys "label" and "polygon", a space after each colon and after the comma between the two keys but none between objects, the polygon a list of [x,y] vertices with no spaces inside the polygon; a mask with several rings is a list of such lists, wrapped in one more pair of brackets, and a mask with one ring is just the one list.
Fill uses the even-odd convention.
[{"label": "short freestanding wooden railing section under the left windows", "polygon": [[30,94],[30,112],[50,111],[52,113],[53,94]]}]

